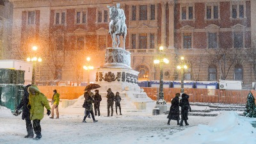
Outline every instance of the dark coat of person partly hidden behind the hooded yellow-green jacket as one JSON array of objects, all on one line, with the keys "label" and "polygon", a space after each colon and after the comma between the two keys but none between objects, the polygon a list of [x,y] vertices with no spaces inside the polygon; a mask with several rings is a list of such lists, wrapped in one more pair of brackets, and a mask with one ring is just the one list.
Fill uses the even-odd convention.
[{"label": "dark coat of person partly hidden behind the hooded yellow-green jacket", "polygon": [[28,109],[28,97],[29,97],[29,93],[28,93],[28,87],[31,86],[31,84],[28,84],[25,88],[24,88],[24,95],[22,97],[22,100],[20,101],[19,106],[17,106],[16,109],[20,109],[22,108],[22,120],[24,120],[25,118],[30,120],[30,113],[29,113],[29,109]]}]

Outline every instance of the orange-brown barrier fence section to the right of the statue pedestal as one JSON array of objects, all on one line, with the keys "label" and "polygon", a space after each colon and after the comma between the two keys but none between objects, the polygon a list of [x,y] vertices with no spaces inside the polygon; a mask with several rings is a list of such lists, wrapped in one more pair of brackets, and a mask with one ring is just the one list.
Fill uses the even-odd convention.
[{"label": "orange-brown barrier fence section to the right of the statue pedestal", "polygon": [[[143,88],[148,97],[157,100],[159,88]],[[255,90],[220,90],[220,89],[201,89],[184,88],[184,92],[189,95],[189,102],[211,102],[223,104],[245,104],[249,92],[256,95]],[[164,100],[171,102],[175,93],[180,93],[180,88],[164,88]]]}]

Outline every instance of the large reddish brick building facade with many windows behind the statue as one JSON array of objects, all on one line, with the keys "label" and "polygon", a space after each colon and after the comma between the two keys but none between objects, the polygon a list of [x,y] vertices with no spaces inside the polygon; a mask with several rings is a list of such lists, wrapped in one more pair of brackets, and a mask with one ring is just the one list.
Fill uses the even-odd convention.
[{"label": "large reddish brick building facade with many windows behind the statue", "polygon": [[105,49],[111,47],[107,6],[116,3],[125,10],[125,48],[139,80],[159,80],[153,61],[164,56],[170,61],[164,81],[180,79],[181,63],[188,65],[188,81],[239,80],[244,88],[255,81],[256,1],[10,1],[12,58],[41,56],[40,81],[84,81],[87,56],[94,67],[104,64]]}]

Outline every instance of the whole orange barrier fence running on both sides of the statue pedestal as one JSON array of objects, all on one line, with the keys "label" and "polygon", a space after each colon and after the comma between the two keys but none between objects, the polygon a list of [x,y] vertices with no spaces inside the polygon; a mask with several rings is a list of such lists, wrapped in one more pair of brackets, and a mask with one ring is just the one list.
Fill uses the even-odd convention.
[{"label": "whole orange barrier fence running on both sides of the statue pedestal", "polygon": [[[44,93],[47,99],[52,99],[53,90],[60,93],[60,99],[77,99],[84,93],[84,86],[38,86],[40,92]],[[144,87],[144,92],[152,100],[157,100],[159,88]],[[164,100],[171,102],[175,93],[180,93],[180,88],[164,88]],[[223,104],[245,104],[250,90],[220,90],[204,88],[184,88],[189,95],[190,102],[211,102]],[[256,95],[255,90],[251,90]]]}]

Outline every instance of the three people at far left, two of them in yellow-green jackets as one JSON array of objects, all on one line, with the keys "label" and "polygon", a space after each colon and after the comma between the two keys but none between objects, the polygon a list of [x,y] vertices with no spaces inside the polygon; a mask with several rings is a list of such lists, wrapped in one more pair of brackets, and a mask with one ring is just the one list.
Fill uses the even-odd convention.
[{"label": "three people at far left, two of them in yellow-green jackets", "polygon": [[15,112],[18,113],[19,109],[22,108],[22,120],[26,120],[28,134],[24,138],[34,138],[34,131],[36,134],[35,140],[42,138],[40,121],[44,118],[44,107],[47,109],[47,115],[52,113],[50,118],[54,118],[54,109],[56,109],[56,118],[59,118],[60,94],[57,93],[57,90],[53,90],[53,92],[51,108],[47,97],[40,92],[36,85],[28,84],[25,86],[24,96],[15,109]]}]

